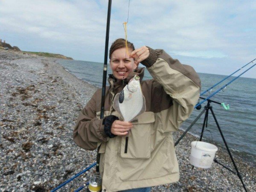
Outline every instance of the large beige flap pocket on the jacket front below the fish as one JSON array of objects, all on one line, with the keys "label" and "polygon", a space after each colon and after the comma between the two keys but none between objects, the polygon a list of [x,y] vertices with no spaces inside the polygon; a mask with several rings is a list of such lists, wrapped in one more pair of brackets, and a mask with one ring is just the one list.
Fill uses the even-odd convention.
[{"label": "large beige flap pocket on the jacket front below the fish", "polygon": [[[150,132],[154,125],[154,113],[144,112],[132,121],[134,127],[130,130],[128,143],[126,137],[121,140],[121,157],[124,158],[149,158]],[[125,144],[127,148],[125,148]],[[125,150],[127,149],[127,150]]]}]

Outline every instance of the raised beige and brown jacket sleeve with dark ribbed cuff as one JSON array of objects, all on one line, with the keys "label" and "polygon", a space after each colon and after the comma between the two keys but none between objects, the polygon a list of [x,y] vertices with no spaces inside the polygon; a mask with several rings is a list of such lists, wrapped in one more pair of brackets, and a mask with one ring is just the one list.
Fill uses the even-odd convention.
[{"label": "raised beige and brown jacket sleeve with dark ribbed cuff", "polygon": [[[142,64],[171,96],[173,105],[169,109],[167,118],[174,126],[166,127],[166,131],[176,131],[190,116],[198,102],[201,81],[191,66],[181,64],[162,49],[149,49],[150,55]],[[173,127],[175,130],[168,130]]]}]

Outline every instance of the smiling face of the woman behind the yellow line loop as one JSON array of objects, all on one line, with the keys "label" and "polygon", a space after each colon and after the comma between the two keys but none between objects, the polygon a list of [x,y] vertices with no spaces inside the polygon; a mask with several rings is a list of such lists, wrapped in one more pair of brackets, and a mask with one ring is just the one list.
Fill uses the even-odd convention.
[{"label": "smiling face of the woman behind the yellow line loop", "polygon": [[131,49],[128,49],[128,53],[126,53],[125,47],[116,49],[110,59],[110,67],[113,72],[113,76],[116,79],[125,79],[134,69],[136,69],[137,65],[134,63],[133,58],[129,58],[131,53]]}]

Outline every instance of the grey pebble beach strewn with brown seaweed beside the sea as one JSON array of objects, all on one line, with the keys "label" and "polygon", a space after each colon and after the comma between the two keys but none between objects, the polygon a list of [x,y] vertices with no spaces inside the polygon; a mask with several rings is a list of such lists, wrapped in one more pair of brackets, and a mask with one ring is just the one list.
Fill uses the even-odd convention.
[{"label": "grey pebble beach strewn with brown seaweed beside the sea", "polygon": [[[96,90],[47,58],[0,49],[0,191],[48,192],[96,161],[96,151],[73,142],[73,128],[81,109]],[[173,133],[176,141],[182,131]],[[176,147],[180,167],[177,183],[154,186],[151,192],[243,192],[236,174],[213,163],[209,169],[189,164],[186,134]],[[234,170],[226,149],[216,158]],[[248,192],[256,189],[256,165],[234,157]],[[58,191],[75,191],[95,169],[85,172]]]}]

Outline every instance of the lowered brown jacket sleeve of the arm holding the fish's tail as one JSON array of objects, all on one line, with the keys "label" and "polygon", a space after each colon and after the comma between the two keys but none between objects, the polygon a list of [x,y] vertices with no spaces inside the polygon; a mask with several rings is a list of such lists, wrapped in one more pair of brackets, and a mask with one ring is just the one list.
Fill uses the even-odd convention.
[{"label": "lowered brown jacket sleeve of the arm holding the fish's tail", "polygon": [[94,150],[98,142],[106,142],[108,136],[104,132],[103,119],[96,118],[96,93],[80,112],[73,130],[73,139],[75,143],[84,149]]}]

